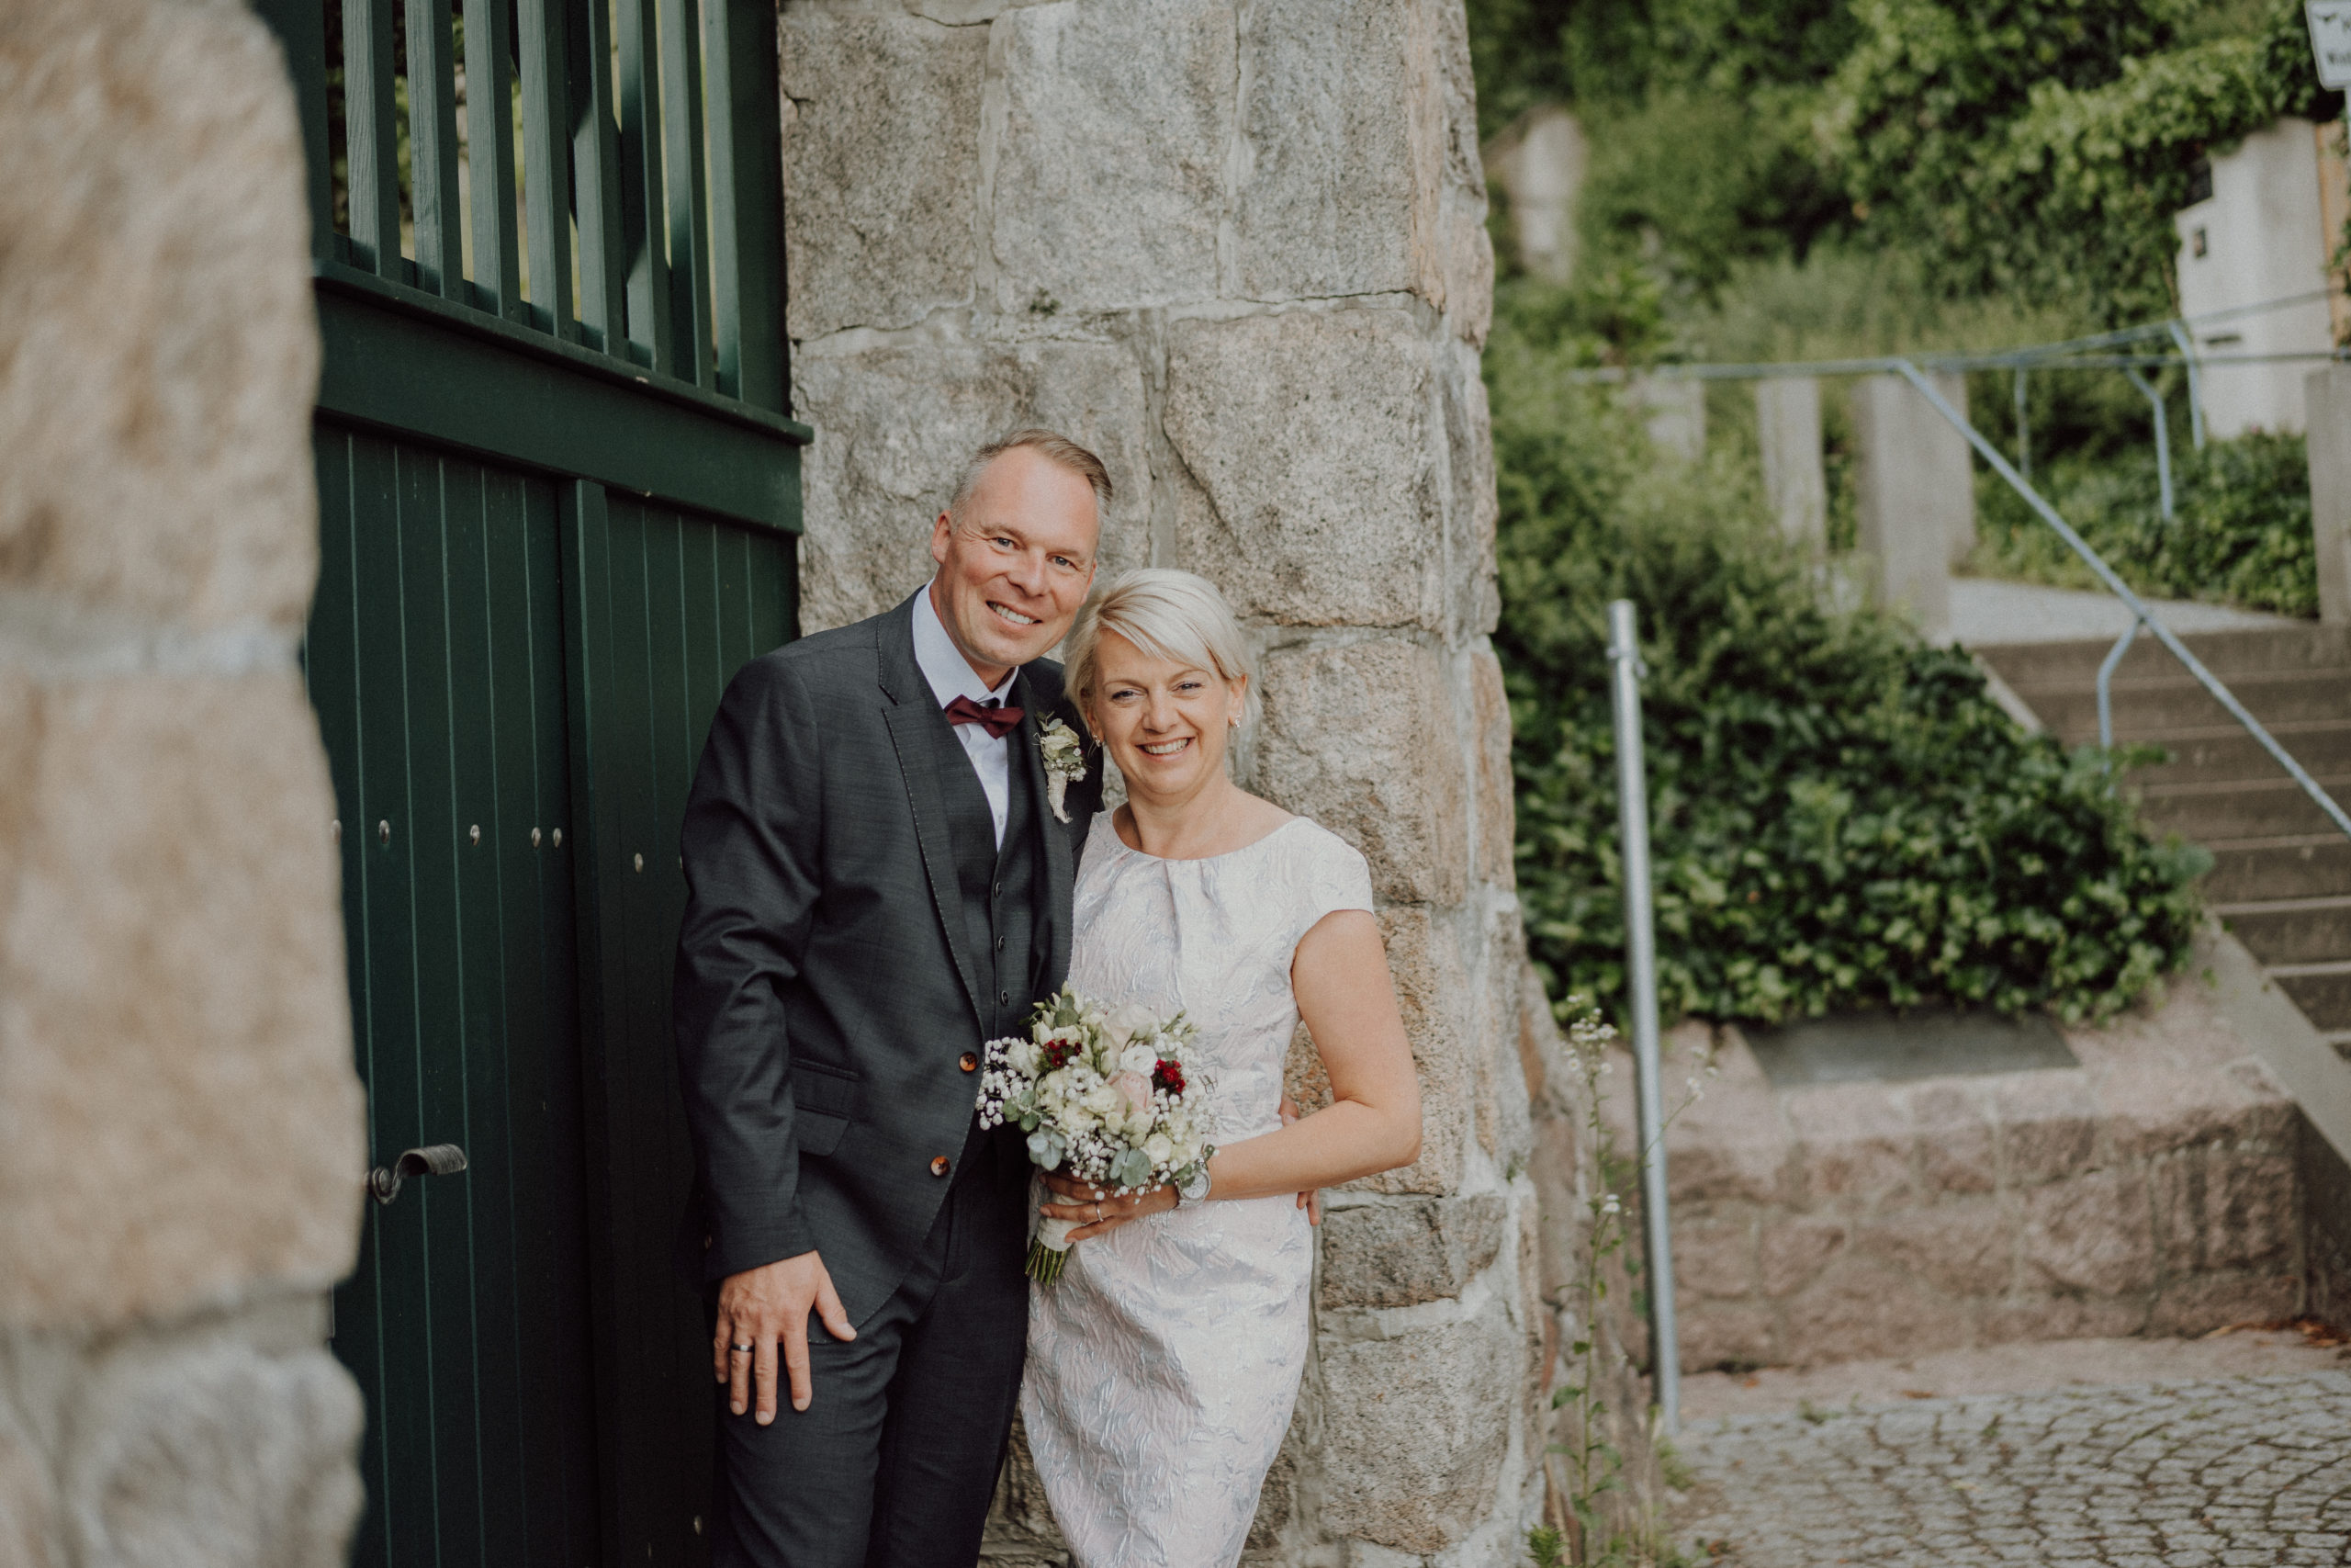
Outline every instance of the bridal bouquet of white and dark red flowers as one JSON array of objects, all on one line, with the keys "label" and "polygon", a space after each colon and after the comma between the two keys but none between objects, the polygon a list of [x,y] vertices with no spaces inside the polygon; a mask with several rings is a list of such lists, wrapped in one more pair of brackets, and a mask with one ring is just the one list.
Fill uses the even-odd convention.
[{"label": "bridal bouquet of white and dark red flowers", "polygon": [[[980,1126],[1018,1121],[1041,1171],[1117,1187],[1183,1185],[1208,1164],[1206,1088],[1185,1077],[1197,1030],[1176,1013],[1105,1009],[1063,985],[1037,1004],[1027,1037],[987,1041]],[[1060,1279],[1074,1220],[1046,1220],[1030,1246],[1027,1276]]]}]

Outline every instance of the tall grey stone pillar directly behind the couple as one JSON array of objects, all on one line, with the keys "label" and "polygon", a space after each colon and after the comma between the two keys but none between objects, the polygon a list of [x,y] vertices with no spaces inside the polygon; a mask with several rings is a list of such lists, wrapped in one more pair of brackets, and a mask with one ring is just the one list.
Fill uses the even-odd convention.
[{"label": "tall grey stone pillar directly behind the couple", "polygon": [[[969,451],[1058,425],[1117,482],[1105,569],[1201,571],[1255,635],[1251,788],[1373,865],[1425,1154],[1331,1194],[1248,1561],[1514,1561],[1540,1324],[1460,0],[802,0],[783,89],[804,628],[910,592]],[[1016,1474],[990,1554],[1053,1549]]]}]

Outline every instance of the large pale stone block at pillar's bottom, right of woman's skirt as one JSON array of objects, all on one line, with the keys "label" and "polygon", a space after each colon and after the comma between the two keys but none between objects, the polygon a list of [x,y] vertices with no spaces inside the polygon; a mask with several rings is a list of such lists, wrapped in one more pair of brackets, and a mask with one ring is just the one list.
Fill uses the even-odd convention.
[{"label": "large pale stone block at pillar's bottom, right of woman's skirt", "polygon": [[1321,1526],[1399,1552],[1441,1552],[1495,1507],[1519,1387],[1500,1302],[1392,1340],[1324,1338]]}]

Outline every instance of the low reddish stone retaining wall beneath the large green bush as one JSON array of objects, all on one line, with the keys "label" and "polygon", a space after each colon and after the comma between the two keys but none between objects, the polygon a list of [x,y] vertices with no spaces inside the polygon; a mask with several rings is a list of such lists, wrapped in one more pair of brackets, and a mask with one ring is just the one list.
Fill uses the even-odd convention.
[{"label": "low reddish stone retaining wall beneath the large green bush", "polygon": [[1723,1030],[1667,1138],[1683,1366],[2295,1316],[2299,1112],[2210,987],[2067,1044],[2081,1067],[1775,1091]]}]

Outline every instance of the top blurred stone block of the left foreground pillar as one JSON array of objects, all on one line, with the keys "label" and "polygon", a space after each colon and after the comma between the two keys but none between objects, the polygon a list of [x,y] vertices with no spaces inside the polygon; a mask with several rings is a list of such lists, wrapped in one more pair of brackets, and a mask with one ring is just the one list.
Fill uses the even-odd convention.
[{"label": "top blurred stone block of the left foreground pillar", "polygon": [[0,28],[0,585],[296,625],[317,329],[275,42],[221,2]]}]

